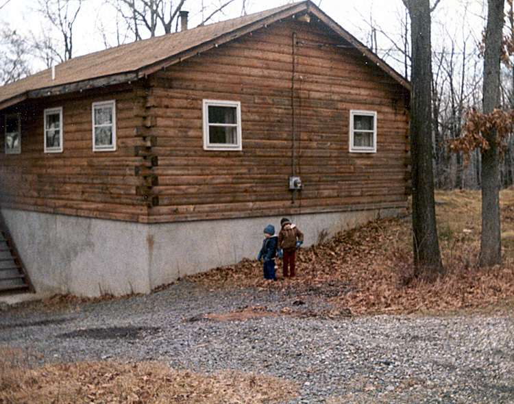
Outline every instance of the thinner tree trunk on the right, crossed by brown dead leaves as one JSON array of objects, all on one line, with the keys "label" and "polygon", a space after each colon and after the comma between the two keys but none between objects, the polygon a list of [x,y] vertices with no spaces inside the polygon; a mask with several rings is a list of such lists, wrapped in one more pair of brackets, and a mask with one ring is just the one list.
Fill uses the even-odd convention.
[{"label": "thinner tree trunk on the right, crossed by brown dead leaves", "polygon": [[[483,113],[490,114],[500,108],[500,58],[502,54],[502,28],[504,0],[489,0],[484,56]],[[500,172],[496,131],[485,134],[489,143],[482,155],[482,239],[480,265],[500,264],[502,257],[500,238]]]}]

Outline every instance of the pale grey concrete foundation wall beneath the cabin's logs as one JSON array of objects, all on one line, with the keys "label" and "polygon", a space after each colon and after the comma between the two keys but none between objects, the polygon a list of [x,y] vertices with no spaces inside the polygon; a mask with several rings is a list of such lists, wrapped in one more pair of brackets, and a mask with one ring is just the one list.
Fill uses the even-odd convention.
[{"label": "pale grey concrete foundation wall beneath the cabin's logs", "polygon": [[[320,238],[404,209],[289,217]],[[148,293],[178,277],[256,258],[263,229],[280,218],[239,218],[147,225],[115,220],[2,210],[25,269],[41,294],[100,296]]]}]

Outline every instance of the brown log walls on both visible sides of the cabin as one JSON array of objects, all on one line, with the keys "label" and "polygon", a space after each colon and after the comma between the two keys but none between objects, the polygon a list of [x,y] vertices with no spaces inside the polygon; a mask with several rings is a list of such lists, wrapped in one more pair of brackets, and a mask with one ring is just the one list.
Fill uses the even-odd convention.
[{"label": "brown log walls on both visible sides of the cabin", "polygon": [[[91,104],[110,99],[117,151],[93,152]],[[242,151],[203,149],[203,99],[241,101]],[[64,152],[44,153],[43,110],[60,106]],[[349,152],[350,110],[378,113],[377,153]],[[282,21],[138,83],[12,112],[22,151],[0,148],[3,207],[164,223],[406,204],[408,92],[315,23]]]}]

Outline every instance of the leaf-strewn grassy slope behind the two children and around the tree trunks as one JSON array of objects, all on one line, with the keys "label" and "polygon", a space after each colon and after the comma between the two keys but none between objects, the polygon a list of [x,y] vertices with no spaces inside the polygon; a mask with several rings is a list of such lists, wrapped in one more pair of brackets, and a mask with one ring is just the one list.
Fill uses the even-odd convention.
[{"label": "leaf-strewn grassy slope behind the two children and around the tree trunks", "polygon": [[[297,255],[296,279],[270,283],[261,264],[244,260],[191,277],[232,287],[339,288],[330,299],[354,315],[441,313],[479,309],[514,299],[514,190],[500,193],[501,266],[478,268],[480,192],[436,193],[441,254],[446,273],[436,281],[413,279],[410,217],[378,220],[339,233]],[[281,263],[278,262],[278,268]],[[280,270],[277,271],[280,275]],[[323,297],[323,296],[322,296]]]}]

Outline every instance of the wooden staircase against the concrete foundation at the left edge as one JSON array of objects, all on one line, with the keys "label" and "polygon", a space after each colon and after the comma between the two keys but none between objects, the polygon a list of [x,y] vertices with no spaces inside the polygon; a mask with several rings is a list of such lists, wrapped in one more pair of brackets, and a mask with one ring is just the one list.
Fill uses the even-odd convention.
[{"label": "wooden staircase against the concrete foundation at the left edge", "polygon": [[0,294],[35,292],[0,214]]}]

